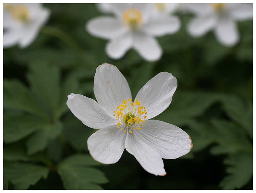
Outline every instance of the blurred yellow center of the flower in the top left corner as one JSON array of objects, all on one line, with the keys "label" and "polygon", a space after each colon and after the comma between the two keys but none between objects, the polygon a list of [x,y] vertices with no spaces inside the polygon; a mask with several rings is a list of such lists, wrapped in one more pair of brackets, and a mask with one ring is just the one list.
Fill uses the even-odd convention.
[{"label": "blurred yellow center of the flower in the top left corner", "polygon": [[28,21],[28,8],[24,5],[13,6],[10,9],[12,19],[16,21],[26,22]]}]

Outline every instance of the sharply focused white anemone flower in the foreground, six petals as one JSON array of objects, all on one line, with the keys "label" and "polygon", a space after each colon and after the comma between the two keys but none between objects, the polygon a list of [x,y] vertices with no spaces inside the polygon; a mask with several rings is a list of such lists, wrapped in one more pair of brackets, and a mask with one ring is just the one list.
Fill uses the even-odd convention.
[{"label": "sharply focused white anemone flower in the foreground, six petals", "polygon": [[165,175],[161,158],[175,159],[193,147],[189,135],[175,125],[150,120],[171,103],[177,79],[161,72],[149,80],[132,102],[129,85],[108,63],[96,69],[94,94],[98,102],[80,94],[68,95],[67,105],[85,125],[100,129],[87,141],[92,157],[104,164],[116,163],[131,153],[149,173]]}]

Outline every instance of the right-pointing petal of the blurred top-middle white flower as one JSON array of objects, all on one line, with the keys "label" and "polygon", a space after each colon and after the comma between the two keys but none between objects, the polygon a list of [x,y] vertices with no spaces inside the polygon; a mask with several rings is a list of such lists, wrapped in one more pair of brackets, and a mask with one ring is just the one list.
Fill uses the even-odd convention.
[{"label": "right-pointing petal of the blurred top-middle white flower", "polygon": [[165,34],[172,34],[180,29],[180,20],[178,17],[163,15],[152,19],[143,26],[143,31],[153,36],[163,36]]}]

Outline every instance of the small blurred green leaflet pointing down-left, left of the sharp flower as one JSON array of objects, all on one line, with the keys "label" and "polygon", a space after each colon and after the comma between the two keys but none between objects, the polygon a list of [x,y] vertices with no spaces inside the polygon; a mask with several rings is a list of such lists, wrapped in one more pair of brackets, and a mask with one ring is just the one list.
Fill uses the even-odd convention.
[{"label": "small blurred green leaflet pointing down-left, left of the sharp flower", "polygon": [[62,123],[57,122],[54,125],[44,126],[35,134],[28,138],[26,146],[28,147],[28,155],[42,151],[46,148],[49,140],[56,138],[60,135],[62,130]]}]

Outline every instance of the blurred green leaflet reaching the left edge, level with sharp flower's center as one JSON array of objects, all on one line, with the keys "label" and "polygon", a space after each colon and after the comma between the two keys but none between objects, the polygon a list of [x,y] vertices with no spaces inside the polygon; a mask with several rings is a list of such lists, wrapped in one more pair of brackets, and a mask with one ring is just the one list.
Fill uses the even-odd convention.
[{"label": "blurred green leaflet reaching the left edge, level with sharp flower's center", "polygon": [[24,114],[4,116],[4,142],[11,143],[27,137],[45,125],[45,120]]}]

